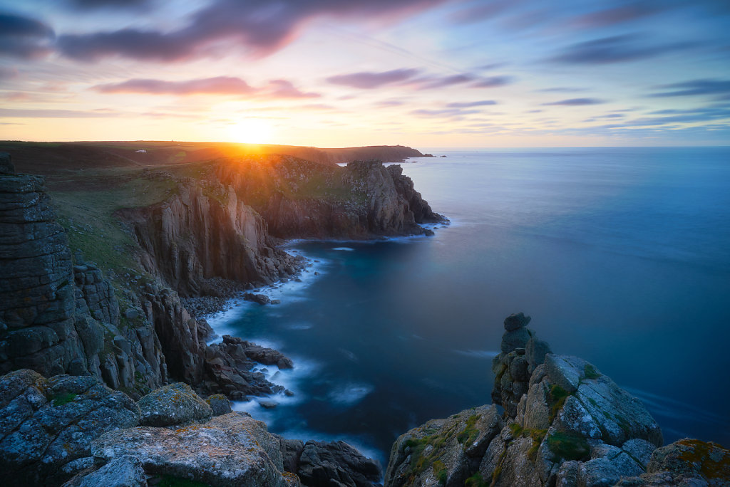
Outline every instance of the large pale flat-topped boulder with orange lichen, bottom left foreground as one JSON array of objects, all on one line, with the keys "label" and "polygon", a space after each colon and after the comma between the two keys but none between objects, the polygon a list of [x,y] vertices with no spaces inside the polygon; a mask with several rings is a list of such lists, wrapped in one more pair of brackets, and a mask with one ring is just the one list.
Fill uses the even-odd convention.
[{"label": "large pale flat-topped boulder with orange lichen, bottom left foreground", "polygon": [[107,462],[131,455],[148,474],[215,486],[291,485],[282,476],[279,441],[261,421],[229,413],[177,429],[138,426],[93,441],[93,456]]}]

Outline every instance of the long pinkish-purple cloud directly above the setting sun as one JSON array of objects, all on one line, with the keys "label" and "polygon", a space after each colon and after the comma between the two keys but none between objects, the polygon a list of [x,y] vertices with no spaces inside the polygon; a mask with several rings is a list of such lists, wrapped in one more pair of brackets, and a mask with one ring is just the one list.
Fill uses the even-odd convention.
[{"label": "long pinkish-purple cloud directly above the setting sun", "polygon": [[147,95],[249,95],[259,98],[318,98],[319,93],[304,93],[286,79],[273,79],[262,88],[250,86],[238,77],[218,76],[164,81],[161,79],[128,79],[120,83],[96,85],[100,93],[142,93]]}]

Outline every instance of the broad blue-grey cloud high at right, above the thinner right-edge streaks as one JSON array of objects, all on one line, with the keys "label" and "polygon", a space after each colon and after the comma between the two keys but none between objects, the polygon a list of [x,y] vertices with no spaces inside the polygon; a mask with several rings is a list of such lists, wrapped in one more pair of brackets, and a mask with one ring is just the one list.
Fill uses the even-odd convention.
[{"label": "broad blue-grey cloud high at right, above the thinner right-edge streaks", "polygon": [[636,35],[612,36],[588,42],[579,42],[567,47],[550,61],[568,64],[608,64],[655,58],[669,52],[686,50],[694,44],[642,45],[644,39]]}]

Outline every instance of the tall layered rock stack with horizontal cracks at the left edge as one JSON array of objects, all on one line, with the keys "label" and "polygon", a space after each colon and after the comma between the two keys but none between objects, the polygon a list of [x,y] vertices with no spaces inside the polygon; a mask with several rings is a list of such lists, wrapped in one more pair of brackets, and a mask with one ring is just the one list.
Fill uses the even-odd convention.
[{"label": "tall layered rock stack with horizontal cracks at the left edge", "polygon": [[44,178],[9,171],[6,163],[0,175],[0,373],[86,370],[66,233],[55,222]]}]

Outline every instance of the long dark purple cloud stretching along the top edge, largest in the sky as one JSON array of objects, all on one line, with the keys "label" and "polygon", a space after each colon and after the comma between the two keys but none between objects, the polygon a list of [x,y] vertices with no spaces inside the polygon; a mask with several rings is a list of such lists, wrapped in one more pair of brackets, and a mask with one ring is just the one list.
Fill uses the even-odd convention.
[{"label": "long dark purple cloud stretching along the top edge, largest in the sky", "polygon": [[[182,61],[212,55],[211,44],[237,42],[267,55],[291,42],[315,17],[398,18],[446,0],[214,0],[177,31],[120,31],[59,36],[65,55],[83,61],[123,56],[145,61]],[[215,51],[219,52],[219,51]]]}]

